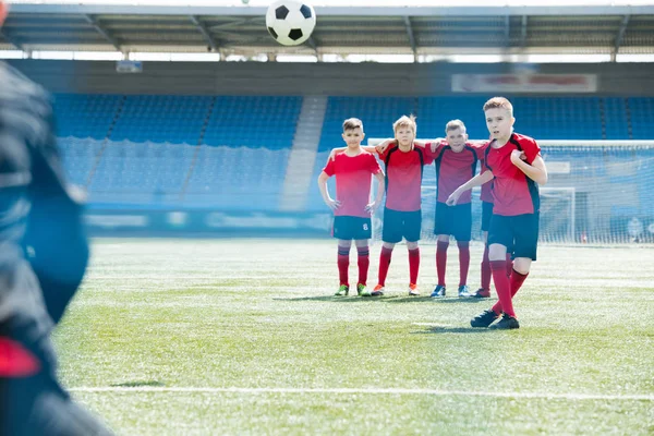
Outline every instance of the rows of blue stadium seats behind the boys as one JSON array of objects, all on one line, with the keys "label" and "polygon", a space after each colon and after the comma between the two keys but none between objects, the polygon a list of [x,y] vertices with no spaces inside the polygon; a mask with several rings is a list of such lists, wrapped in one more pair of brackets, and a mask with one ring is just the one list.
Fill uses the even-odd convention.
[{"label": "rows of blue stadium seats behind the boys", "polygon": [[[392,121],[403,113],[417,114],[420,137],[441,136],[453,118],[467,123],[471,137],[483,137],[485,99],[329,97],[312,180],[328,150],[342,144],[346,117],[361,118],[368,138],[391,135]],[[538,140],[654,138],[654,98],[512,101],[516,129]],[[56,96],[65,168],[74,183],[87,185],[93,204],[109,207],[278,210],[301,107],[302,98],[292,96]],[[622,201],[614,202],[611,217],[652,213],[654,198],[633,173],[651,168],[652,148],[545,147],[543,153],[547,161],[569,165],[569,173],[556,180],[619,186],[622,191],[611,195]],[[426,189],[433,179],[427,169]],[[329,183],[334,191],[334,180]],[[315,183],[304,210],[326,211]]]}]

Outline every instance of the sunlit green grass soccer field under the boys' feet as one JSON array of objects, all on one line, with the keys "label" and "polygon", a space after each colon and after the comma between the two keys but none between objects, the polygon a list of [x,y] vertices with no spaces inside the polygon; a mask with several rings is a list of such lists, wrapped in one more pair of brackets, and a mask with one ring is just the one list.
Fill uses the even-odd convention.
[{"label": "sunlit green grass soccer field under the boys' feet", "polygon": [[96,240],[60,374],[120,435],[654,434],[654,249],[538,256],[521,328],[492,331],[469,327],[488,301],[428,298],[435,246],[424,296],[400,245],[387,295],[362,299],[331,296],[329,240]]}]

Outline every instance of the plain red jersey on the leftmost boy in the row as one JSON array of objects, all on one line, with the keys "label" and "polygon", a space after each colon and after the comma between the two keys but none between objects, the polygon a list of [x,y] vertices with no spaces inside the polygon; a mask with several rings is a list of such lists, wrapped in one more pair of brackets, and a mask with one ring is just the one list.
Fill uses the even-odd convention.
[{"label": "plain red jersey on the leftmost boy in the row", "polygon": [[329,177],[336,174],[336,199],[341,205],[334,215],[370,218],[365,206],[371,201],[371,174],[382,171],[375,156],[364,150],[356,156],[341,152],[323,171]]}]

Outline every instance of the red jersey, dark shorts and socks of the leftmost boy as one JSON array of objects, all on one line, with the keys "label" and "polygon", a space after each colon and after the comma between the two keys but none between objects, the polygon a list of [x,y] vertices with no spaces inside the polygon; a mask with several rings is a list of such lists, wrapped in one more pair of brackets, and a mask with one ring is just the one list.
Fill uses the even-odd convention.
[{"label": "red jersey, dark shorts and socks of the leftmost boy", "polygon": [[[371,213],[365,209],[371,199],[371,177],[382,172],[375,156],[362,150],[356,156],[341,152],[329,159],[323,171],[336,175],[336,199],[340,207],[334,211],[332,235],[338,240],[367,240],[372,237]],[[356,247],[359,281],[356,290],[366,292],[370,250]],[[350,247],[338,247],[337,257],[340,289],[337,295],[348,294],[350,289],[348,269],[350,267]],[[365,293],[364,293],[365,294]]]}]

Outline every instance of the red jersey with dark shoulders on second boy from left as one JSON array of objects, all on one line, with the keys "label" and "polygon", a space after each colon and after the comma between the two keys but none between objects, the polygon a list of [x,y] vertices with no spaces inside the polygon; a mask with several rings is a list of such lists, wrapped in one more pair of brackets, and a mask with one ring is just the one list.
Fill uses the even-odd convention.
[{"label": "red jersey with dark shoulders on second boy from left", "polygon": [[386,207],[392,210],[415,211],[421,208],[423,166],[434,161],[426,148],[413,146],[402,152],[391,145],[379,158],[386,165]]}]

